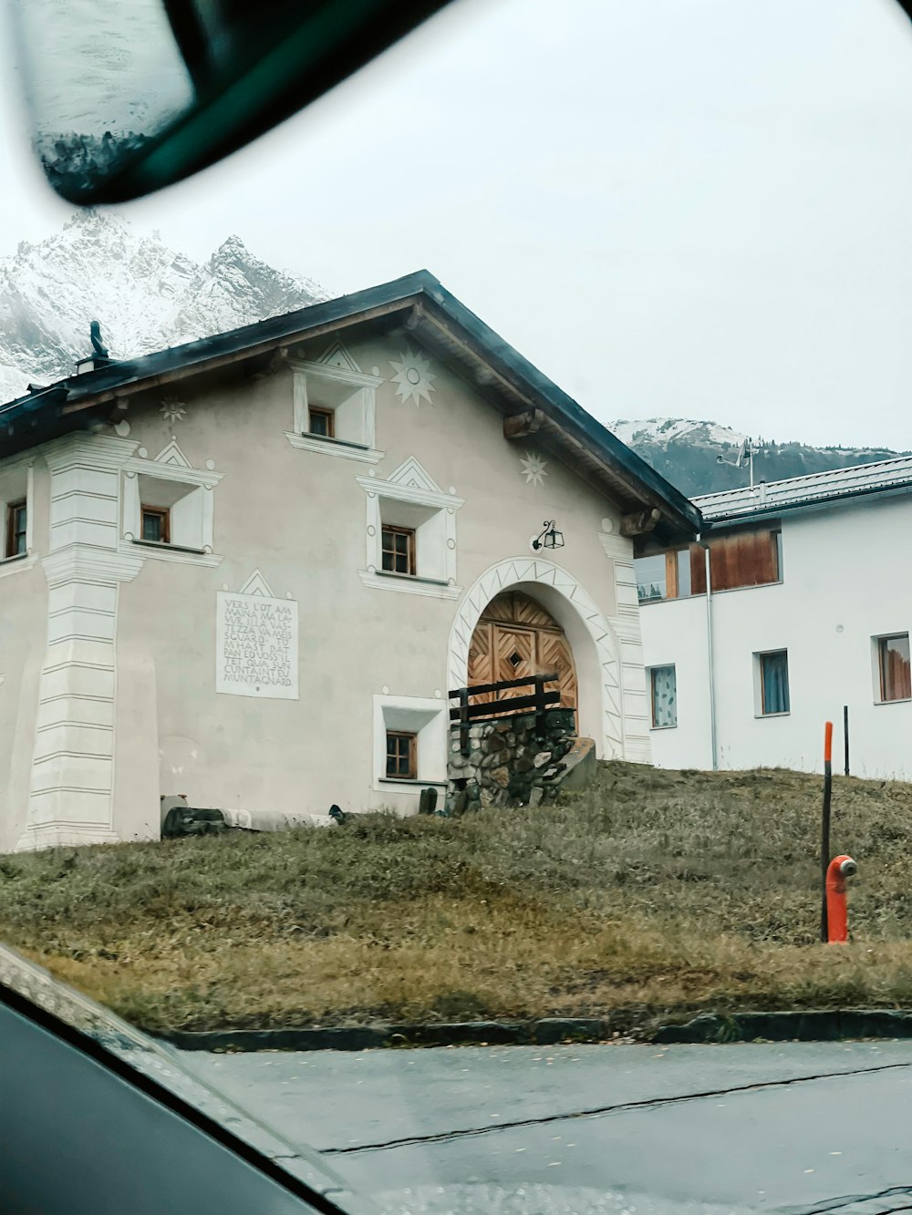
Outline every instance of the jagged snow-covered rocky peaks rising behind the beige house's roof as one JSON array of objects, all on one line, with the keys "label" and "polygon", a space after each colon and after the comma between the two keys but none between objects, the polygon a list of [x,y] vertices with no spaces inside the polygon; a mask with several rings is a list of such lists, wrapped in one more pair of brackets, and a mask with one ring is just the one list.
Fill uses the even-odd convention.
[{"label": "jagged snow-covered rocky peaks rising behind the beige house's roof", "polygon": [[0,259],[0,401],[73,372],[100,321],[112,358],[224,333],[326,299],[309,278],[274,270],[230,236],[197,264],[157,232],[80,211],[38,244]]}]

